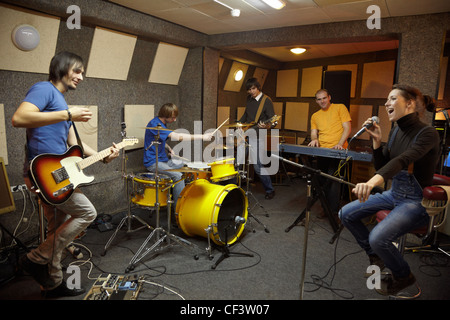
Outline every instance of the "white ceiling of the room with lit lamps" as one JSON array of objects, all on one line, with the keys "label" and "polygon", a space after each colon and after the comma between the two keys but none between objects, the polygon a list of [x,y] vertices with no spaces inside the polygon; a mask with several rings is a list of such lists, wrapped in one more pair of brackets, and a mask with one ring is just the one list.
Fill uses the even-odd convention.
[{"label": "white ceiling of the room with lit lamps", "polygon": [[[381,17],[396,17],[450,12],[450,0],[283,0],[281,10],[270,8],[261,0],[109,0],[154,17],[167,20],[208,35],[263,30],[287,26],[311,25],[340,21],[366,20],[370,5],[377,5]],[[232,17],[228,8],[239,9]],[[298,44],[301,46],[301,43]],[[316,59],[344,54],[395,49],[398,41],[370,43],[308,45],[300,56],[287,47],[252,48],[278,61]]]}]

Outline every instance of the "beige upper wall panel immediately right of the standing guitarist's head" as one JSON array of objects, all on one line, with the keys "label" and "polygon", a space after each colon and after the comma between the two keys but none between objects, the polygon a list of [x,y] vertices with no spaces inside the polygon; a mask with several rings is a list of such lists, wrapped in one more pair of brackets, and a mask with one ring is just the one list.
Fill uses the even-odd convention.
[{"label": "beige upper wall panel immediately right of the standing guitarist's head", "polygon": [[96,27],[86,77],[127,80],[137,37]]}]

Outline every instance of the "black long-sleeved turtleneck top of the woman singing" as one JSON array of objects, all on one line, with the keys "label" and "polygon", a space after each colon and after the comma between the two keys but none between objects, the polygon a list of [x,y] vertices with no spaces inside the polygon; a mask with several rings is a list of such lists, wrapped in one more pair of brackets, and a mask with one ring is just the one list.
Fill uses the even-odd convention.
[{"label": "black long-sleeved turtleneck top of the woman singing", "polygon": [[[423,123],[417,113],[398,119],[397,125],[399,129],[390,147],[389,140],[395,131],[395,126],[389,133],[388,143],[374,150],[376,173],[387,181],[401,170],[408,170],[408,165],[414,163],[413,174],[421,187],[432,185],[440,156],[439,134],[435,128]],[[422,128],[425,129],[420,132]],[[417,135],[419,132],[420,134]],[[412,143],[414,139],[415,142]]]}]

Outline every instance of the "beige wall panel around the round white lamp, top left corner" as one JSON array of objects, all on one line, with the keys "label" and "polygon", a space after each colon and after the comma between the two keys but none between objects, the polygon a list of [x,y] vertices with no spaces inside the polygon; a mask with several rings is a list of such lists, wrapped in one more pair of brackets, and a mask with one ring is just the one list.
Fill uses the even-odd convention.
[{"label": "beige wall panel around the round white lamp, top left corner", "polygon": [[[0,69],[47,74],[55,55],[59,22],[56,17],[0,5]],[[32,51],[18,49],[11,40],[12,31],[21,24],[39,32],[39,45]]]}]

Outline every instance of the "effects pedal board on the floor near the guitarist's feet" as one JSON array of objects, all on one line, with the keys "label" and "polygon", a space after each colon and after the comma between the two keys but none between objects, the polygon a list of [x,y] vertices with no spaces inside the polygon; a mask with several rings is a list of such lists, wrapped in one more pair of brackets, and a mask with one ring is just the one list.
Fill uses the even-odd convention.
[{"label": "effects pedal board on the floor near the guitarist's feet", "polygon": [[100,275],[84,300],[136,300],[141,286],[138,275]]}]

